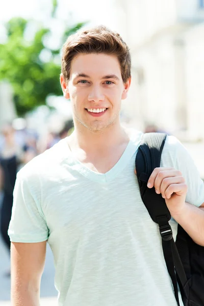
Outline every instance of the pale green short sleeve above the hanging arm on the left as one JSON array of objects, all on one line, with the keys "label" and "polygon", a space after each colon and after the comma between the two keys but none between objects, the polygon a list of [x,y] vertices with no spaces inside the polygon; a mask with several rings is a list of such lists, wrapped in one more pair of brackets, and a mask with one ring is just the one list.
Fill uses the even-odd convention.
[{"label": "pale green short sleeve above the hanging arm on the left", "polygon": [[22,170],[14,187],[8,235],[11,242],[42,242],[48,238],[48,228],[41,210],[40,185],[36,177],[23,176]]}]

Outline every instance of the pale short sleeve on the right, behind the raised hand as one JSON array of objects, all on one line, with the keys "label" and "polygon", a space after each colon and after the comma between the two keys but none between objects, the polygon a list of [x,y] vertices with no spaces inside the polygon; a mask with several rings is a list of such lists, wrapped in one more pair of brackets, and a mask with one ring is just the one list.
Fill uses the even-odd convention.
[{"label": "pale short sleeve on the right, behind the raised hand", "polygon": [[188,186],[186,201],[199,207],[204,202],[204,184],[199,171],[185,146],[174,136],[167,136],[162,154],[162,167],[182,172]]}]

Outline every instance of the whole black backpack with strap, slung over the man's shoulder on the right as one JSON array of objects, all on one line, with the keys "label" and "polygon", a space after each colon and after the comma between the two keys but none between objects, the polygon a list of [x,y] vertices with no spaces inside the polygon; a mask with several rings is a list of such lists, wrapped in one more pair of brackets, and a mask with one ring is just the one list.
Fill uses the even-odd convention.
[{"label": "whole black backpack with strap, slung over the man's shoulder on the right", "polygon": [[165,199],[155,192],[155,188],[147,188],[152,171],[160,167],[165,140],[166,134],[162,133],[143,135],[135,161],[140,194],[151,219],[159,224],[164,259],[178,306],[180,302],[177,284],[184,306],[203,306],[204,247],[196,244],[179,224],[174,242],[168,222],[171,215]]}]

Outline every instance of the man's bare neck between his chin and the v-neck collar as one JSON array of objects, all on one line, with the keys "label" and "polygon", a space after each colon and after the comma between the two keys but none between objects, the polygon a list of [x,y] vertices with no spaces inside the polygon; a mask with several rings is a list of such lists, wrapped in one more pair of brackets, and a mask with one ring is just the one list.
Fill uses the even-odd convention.
[{"label": "man's bare neck between his chin and the v-neck collar", "polygon": [[106,149],[117,147],[123,142],[128,142],[129,137],[123,127],[119,124],[113,124],[103,131],[90,131],[83,126],[79,129],[74,127],[74,132],[70,136],[72,147],[83,149],[88,152],[100,152]]}]

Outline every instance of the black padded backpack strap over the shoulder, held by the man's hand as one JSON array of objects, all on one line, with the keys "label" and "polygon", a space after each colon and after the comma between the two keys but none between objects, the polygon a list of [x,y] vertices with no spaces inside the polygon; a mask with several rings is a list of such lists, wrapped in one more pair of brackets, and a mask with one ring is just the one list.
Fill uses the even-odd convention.
[{"label": "black padded backpack strap over the shoulder, held by the man's hand", "polygon": [[159,224],[164,259],[173,284],[177,305],[180,306],[177,282],[182,293],[186,295],[184,286],[187,282],[187,277],[168,222],[171,219],[171,215],[162,195],[157,194],[154,187],[151,189],[147,187],[152,171],[160,167],[166,137],[167,135],[163,133],[144,134],[138,148],[135,166],[142,201],[151,219]]}]

